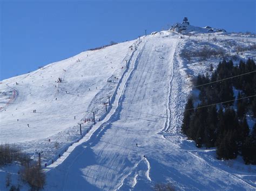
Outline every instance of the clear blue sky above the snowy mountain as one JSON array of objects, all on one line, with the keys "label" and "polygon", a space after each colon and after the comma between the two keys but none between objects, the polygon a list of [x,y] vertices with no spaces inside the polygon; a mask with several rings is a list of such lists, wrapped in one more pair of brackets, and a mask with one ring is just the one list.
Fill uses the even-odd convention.
[{"label": "clear blue sky above the snowy mountain", "polygon": [[0,80],[88,48],[138,38],[188,17],[191,25],[256,32],[255,0],[0,0]]}]

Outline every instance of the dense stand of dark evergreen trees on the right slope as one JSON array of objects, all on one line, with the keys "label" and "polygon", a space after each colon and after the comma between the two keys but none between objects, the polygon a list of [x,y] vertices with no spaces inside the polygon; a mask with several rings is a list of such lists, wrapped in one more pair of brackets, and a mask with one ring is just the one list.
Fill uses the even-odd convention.
[{"label": "dense stand of dark evergreen trees on the right slope", "polygon": [[[240,154],[246,164],[256,165],[256,124],[250,131],[246,120],[246,115],[256,118],[255,69],[252,59],[246,63],[240,61],[238,66],[224,60],[211,76],[197,76],[195,85],[200,91],[197,107],[194,107],[195,97],[187,100],[181,131],[197,147],[217,147],[218,159],[234,159]],[[245,73],[248,74],[241,75]],[[227,80],[215,82],[222,79]],[[234,89],[238,91],[237,97]]]}]

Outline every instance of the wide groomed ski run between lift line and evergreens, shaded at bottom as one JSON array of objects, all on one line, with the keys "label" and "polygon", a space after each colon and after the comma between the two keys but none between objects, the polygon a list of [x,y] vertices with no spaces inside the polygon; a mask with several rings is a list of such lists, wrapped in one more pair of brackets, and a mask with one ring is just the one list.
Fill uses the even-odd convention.
[{"label": "wide groomed ski run between lift line and evergreens, shaded at bottom", "polygon": [[[175,35],[146,37],[111,117],[47,173],[46,189],[149,190],[167,179],[179,189],[253,190],[238,177],[180,149],[176,126],[180,118],[174,114],[182,112],[180,94],[188,90],[183,89],[186,73],[177,59],[177,46]],[[170,122],[163,116],[169,109]],[[163,136],[167,129],[172,130],[172,139]],[[57,181],[63,180],[62,172],[67,175],[64,188],[51,181],[57,175]]]}]

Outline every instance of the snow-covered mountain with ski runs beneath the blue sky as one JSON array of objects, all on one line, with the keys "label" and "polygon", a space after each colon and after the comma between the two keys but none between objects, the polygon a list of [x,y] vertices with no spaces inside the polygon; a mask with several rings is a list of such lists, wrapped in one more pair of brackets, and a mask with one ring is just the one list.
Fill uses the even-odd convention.
[{"label": "snow-covered mountain with ski runs beneath the blue sky", "polygon": [[42,152],[45,190],[255,190],[255,166],[180,133],[193,76],[223,58],[255,60],[254,35],[211,29],[177,24],[1,81],[0,142]]}]

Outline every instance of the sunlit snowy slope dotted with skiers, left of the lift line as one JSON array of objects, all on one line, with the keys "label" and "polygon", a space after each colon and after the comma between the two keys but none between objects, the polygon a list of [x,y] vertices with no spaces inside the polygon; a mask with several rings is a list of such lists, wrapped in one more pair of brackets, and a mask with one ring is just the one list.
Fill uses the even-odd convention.
[{"label": "sunlit snowy slope dotted with skiers, left of the lift line", "polygon": [[[50,146],[52,152],[53,141],[65,145],[76,140],[80,134],[78,123],[85,132],[92,123],[91,111],[96,112],[97,119],[104,114],[103,102],[114,95],[133,43],[83,52],[2,81],[0,142],[22,143],[28,152],[42,147],[47,155],[45,148]],[[57,83],[58,78],[62,82]],[[85,118],[90,122],[84,123]]]}]

